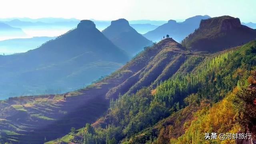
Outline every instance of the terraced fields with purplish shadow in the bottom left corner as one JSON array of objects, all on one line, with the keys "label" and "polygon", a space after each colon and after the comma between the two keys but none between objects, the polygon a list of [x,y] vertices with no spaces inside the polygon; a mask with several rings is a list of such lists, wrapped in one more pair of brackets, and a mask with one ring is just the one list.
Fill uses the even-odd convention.
[{"label": "terraced fields with purplish shadow in the bottom left corner", "polygon": [[[65,95],[65,96],[64,96]],[[0,142],[42,144],[93,122],[108,108],[100,95],[44,95],[10,98],[0,102]],[[92,100],[96,99],[96,101]],[[90,101],[90,103],[88,103]],[[101,108],[98,108],[101,107]],[[29,141],[28,141],[29,140]]]}]

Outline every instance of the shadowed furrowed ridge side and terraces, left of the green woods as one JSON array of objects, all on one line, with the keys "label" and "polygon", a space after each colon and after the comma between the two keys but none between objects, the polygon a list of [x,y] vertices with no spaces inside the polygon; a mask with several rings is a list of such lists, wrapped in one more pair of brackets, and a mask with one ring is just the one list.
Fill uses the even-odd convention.
[{"label": "shadowed furrowed ridge side and terraces, left of the green woods", "polygon": [[[63,136],[71,127],[81,128],[86,122],[96,121],[106,112],[110,99],[117,98],[119,93],[133,93],[151,83],[152,87],[156,87],[157,83],[168,79],[178,70],[190,57],[187,55],[196,56],[198,53],[187,53],[179,43],[167,38],[148,47],[124,67],[85,89],[64,95],[17,97],[2,101],[2,136],[8,140],[14,139],[13,143],[18,140],[22,144],[26,144],[28,139],[31,143],[40,143],[44,137],[52,140]],[[18,117],[20,119],[17,121]],[[20,137],[19,134],[24,135]]]}]

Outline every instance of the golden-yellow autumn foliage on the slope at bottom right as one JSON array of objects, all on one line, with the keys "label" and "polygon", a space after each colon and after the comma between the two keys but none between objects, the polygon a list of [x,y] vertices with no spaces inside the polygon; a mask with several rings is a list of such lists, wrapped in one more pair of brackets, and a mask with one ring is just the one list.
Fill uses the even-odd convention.
[{"label": "golden-yellow autumn foliage on the slope at bottom right", "polygon": [[[236,89],[234,89],[236,91]],[[204,134],[216,132],[220,133],[236,133],[239,126],[234,122],[235,110],[231,99],[234,94],[229,94],[219,103],[214,104],[211,108],[202,107],[194,114],[190,126],[186,132],[177,139],[172,138],[170,144],[234,144],[234,140],[205,140]]]}]

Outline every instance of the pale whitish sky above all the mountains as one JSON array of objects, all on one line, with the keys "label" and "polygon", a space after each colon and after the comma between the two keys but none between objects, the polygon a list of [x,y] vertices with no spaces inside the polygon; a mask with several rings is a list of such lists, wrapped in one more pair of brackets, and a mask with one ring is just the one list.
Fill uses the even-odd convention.
[{"label": "pale whitish sky above all the mountains", "polygon": [[0,18],[182,20],[229,15],[256,23],[256,0],[2,0]]}]

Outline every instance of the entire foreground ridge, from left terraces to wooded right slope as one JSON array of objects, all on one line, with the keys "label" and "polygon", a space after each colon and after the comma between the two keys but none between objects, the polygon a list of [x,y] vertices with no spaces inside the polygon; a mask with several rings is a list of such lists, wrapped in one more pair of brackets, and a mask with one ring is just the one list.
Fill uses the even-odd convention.
[{"label": "entire foreground ridge, from left terraces to wooded right slope", "polygon": [[[177,54],[182,53],[184,55],[184,61],[179,63],[179,67],[172,75],[168,73],[170,75],[168,79],[160,80],[162,78],[160,75],[167,74],[165,68],[162,68],[162,72],[160,74],[158,73],[158,77],[154,77],[153,80],[147,78],[146,74],[144,74],[146,71],[143,72],[146,68],[143,65],[141,66],[140,62],[146,63],[146,67],[151,67],[152,69],[150,71],[156,69],[156,65],[153,65],[154,58],[147,61],[147,56],[152,57],[149,54],[153,49],[158,50],[158,52],[160,51],[162,57],[158,57],[158,55],[153,56],[158,59],[163,59],[163,52],[168,50],[169,52],[172,51],[174,53],[175,51]],[[66,98],[64,98],[64,95],[52,95],[44,97],[20,97],[3,101],[1,106],[5,111],[2,109],[2,115],[10,114],[10,110],[13,111],[11,112],[13,115],[1,117],[2,138],[4,140],[10,140],[13,143],[28,139],[33,143],[33,138],[35,138],[34,142],[40,139],[44,141],[44,137],[49,140],[50,138],[59,137],[64,134],[64,132],[60,132],[60,128],[64,128],[65,132],[68,133],[71,127],[81,128],[87,122],[93,126],[93,128],[90,128],[90,124],[87,124],[87,128],[89,127],[91,129],[91,133],[86,131],[87,128],[82,128],[63,138],[48,143],[60,143],[62,141],[66,143],[80,143],[84,140],[93,140],[94,142],[99,141],[101,143],[116,141],[124,143],[149,142],[161,144],[163,141],[168,142],[169,140],[173,140],[176,143],[180,143],[180,140],[190,143],[192,140],[196,144],[200,140],[202,141],[200,131],[209,130],[210,132],[212,130],[211,127],[203,129],[205,128],[204,124],[201,124],[200,127],[201,121],[199,121],[198,126],[197,120],[200,118],[202,121],[208,122],[209,126],[212,126],[210,124],[211,121],[207,120],[207,118],[216,116],[214,113],[210,115],[213,110],[218,111],[223,116],[228,113],[227,117],[229,121],[226,122],[225,120],[227,119],[224,118],[218,119],[217,126],[214,127],[216,130],[220,129],[221,132],[236,132],[241,127],[237,121],[234,121],[238,109],[233,106],[234,104],[230,99],[235,97],[236,91],[249,84],[247,78],[251,75],[250,71],[255,69],[254,65],[256,63],[256,41],[251,41],[246,45],[214,54],[203,52],[191,53],[182,49],[183,47],[177,43],[175,44],[175,41],[172,39],[165,39],[152,47],[148,47],[148,49],[132,59],[122,69],[102,79],[98,83],[86,89],[65,94]],[[175,61],[178,57],[180,56],[178,55],[174,58]],[[138,59],[141,61],[138,61]],[[164,67],[173,64],[174,61],[165,63]],[[141,66],[141,69],[138,66]],[[131,68],[133,68],[133,72],[128,70]],[[138,73],[136,70],[139,72],[142,71],[143,75],[140,73],[140,77],[143,76],[141,79],[151,82],[148,82],[148,85],[143,83],[146,87],[138,87],[136,83],[141,83],[140,79],[135,83],[133,82],[133,84],[129,84],[132,85],[130,89],[118,89],[118,87],[121,87],[118,83],[127,87],[125,83],[128,83],[127,80],[132,79]],[[130,75],[130,78],[127,78],[128,75]],[[133,87],[139,90],[135,94],[132,94],[133,89],[135,89]],[[118,90],[124,95],[121,93],[122,96],[118,97],[118,95],[116,96],[113,93],[113,90]],[[96,93],[98,93],[98,97],[96,97]],[[105,99],[105,96],[110,99]],[[85,97],[90,99],[91,105],[85,103]],[[101,102],[98,101],[100,97],[102,98]],[[118,99],[111,99],[114,97],[118,97]],[[93,99],[97,99],[97,101]],[[106,104],[109,100],[110,107],[108,108]],[[80,105],[78,101],[84,104]],[[92,103],[93,101],[94,103]],[[88,118],[88,112],[79,111],[83,108],[75,107],[74,104],[76,106],[83,106],[88,109],[88,112],[93,112],[90,114],[90,118]],[[68,107],[68,105],[70,106]],[[224,109],[218,105],[225,105],[228,108]],[[102,107],[105,107],[105,109]],[[34,109],[39,110],[35,111]],[[74,112],[74,110],[77,112]],[[97,110],[100,111],[96,112]],[[106,110],[107,113],[104,114]],[[72,112],[71,115],[69,115],[70,112]],[[81,112],[85,114],[81,115]],[[37,122],[41,120],[46,125],[43,124],[40,128],[36,122],[33,124],[30,121],[29,124],[24,124],[22,119],[17,124],[14,119],[19,114],[20,116],[24,116],[24,113],[28,113],[24,120],[28,118]],[[84,117],[84,120],[80,119],[82,118],[81,116]],[[100,116],[102,117],[99,118]],[[96,120],[96,118],[99,119]],[[53,123],[54,125],[50,124],[51,121],[55,121]],[[77,124],[70,122],[76,122]],[[226,124],[229,125],[222,128]],[[28,133],[29,130],[35,127],[38,127],[36,132]],[[192,131],[194,130],[193,127],[200,130],[195,139],[191,139],[189,136],[191,132],[194,132]],[[57,131],[59,133],[56,133],[55,136],[52,135],[52,132]],[[166,132],[169,132],[169,134],[166,135]],[[36,136],[37,134],[40,134],[40,136]],[[22,138],[24,139],[22,140]]]}]

